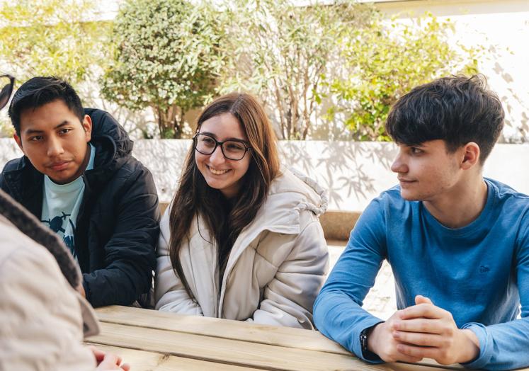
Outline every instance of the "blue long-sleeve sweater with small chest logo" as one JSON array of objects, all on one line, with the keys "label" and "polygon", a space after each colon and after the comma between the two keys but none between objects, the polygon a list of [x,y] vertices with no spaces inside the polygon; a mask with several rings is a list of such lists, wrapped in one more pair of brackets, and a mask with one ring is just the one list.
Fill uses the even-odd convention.
[{"label": "blue long-sleeve sweater with small chest logo", "polygon": [[485,181],[484,210],[457,229],[440,224],[422,202],[404,200],[399,187],[372,200],[314,303],[319,331],[365,360],[360,332],[382,320],[361,306],[387,259],[399,309],[423,295],[451,312],[460,329],[474,331],[479,356],[466,367],[528,366],[529,196]]}]

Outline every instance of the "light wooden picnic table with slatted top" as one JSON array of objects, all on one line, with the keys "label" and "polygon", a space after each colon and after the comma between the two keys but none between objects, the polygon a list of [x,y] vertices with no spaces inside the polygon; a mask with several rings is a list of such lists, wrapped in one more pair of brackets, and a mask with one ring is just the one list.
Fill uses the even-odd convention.
[{"label": "light wooden picnic table with slatted top", "polygon": [[399,370],[439,371],[420,364],[370,365],[318,331],[263,326],[132,307],[96,309],[101,334],[86,343],[123,356],[132,371]]}]

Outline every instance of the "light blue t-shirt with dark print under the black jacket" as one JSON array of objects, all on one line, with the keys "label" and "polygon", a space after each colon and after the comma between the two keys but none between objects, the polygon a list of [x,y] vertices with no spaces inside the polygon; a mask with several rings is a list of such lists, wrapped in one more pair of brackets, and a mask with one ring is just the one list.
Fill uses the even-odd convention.
[{"label": "light blue t-shirt with dark print under the black jacket", "polygon": [[[92,144],[90,144],[90,149],[90,159],[86,170],[93,169],[93,160],[96,156],[96,149]],[[57,184],[45,175],[42,192],[42,216],[40,221],[57,233],[64,241],[64,244],[68,246],[74,258],[77,258],[74,249],[74,232],[77,215],[79,215],[79,207],[81,207],[83,202],[83,177],[79,176],[79,178],[67,184]]]}]

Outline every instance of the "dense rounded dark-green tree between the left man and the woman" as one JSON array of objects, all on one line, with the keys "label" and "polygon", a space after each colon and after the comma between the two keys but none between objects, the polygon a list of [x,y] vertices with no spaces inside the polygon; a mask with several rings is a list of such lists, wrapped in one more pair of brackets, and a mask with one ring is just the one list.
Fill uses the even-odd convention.
[{"label": "dense rounded dark-green tree between the left man and the woman", "polygon": [[103,96],[132,110],[151,107],[160,136],[181,137],[185,113],[212,98],[224,64],[218,23],[207,3],[127,0],[115,18]]}]

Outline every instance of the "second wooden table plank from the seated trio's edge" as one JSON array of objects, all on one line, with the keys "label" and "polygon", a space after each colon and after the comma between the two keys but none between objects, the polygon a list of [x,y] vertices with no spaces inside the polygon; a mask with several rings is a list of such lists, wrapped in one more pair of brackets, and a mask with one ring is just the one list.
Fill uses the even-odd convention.
[{"label": "second wooden table plank from the seated trio's edge", "polygon": [[91,343],[164,353],[208,362],[263,368],[266,370],[423,370],[436,367],[392,363],[368,365],[351,355],[283,348],[262,343],[212,338],[175,331],[103,323],[101,334]]}]

